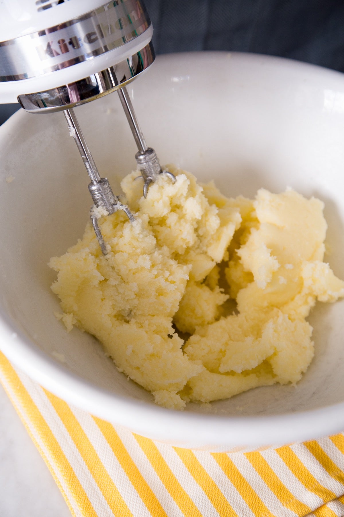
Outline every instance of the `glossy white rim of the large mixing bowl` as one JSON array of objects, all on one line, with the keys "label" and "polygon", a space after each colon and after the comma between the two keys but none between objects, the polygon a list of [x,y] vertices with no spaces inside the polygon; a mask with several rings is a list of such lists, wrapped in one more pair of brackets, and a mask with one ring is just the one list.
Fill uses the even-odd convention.
[{"label": "glossy white rim of the large mixing bowl", "polygon": [[[223,58],[228,52],[207,52],[214,59]],[[295,68],[312,68],[319,73],[344,74],[308,63],[282,57],[231,52],[237,59],[267,60]],[[168,60],[178,54],[158,56]],[[203,52],[179,54],[183,59],[199,59]],[[15,112],[0,128],[0,140],[20,124],[24,110]],[[293,442],[318,438],[341,432],[344,429],[344,402],[316,409],[306,409],[276,415],[218,415],[214,413],[181,412],[156,404],[119,396],[111,391],[94,386],[83,377],[71,372],[32,342],[24,332],[14,327],[10,317],[0,309],[0,350],[15,367],[27,374],[57,397],[87,413],[122,425],[140,435],[175,445],[211,444],[220,446],[282,446]],[[252,432],[254,429],[254,432]]]}]

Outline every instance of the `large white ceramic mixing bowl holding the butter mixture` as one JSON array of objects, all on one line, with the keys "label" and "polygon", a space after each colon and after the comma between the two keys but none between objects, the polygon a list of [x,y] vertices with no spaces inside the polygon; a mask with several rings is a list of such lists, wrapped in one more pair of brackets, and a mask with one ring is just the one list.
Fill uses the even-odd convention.
[{"label": "large white ceramic mixing bowl holding the butter mixture", "polygon": [[[343,74],[259,55],[177,54],[158,57],[129,92],[161,163],[215,179],[226,195],[291,186],[320,197],[329,262],[344,278]],[[76,114],[101,174],[119,192],[136,149],[118,96]],[[47,262],[81,236],[91,205],[63,114],[15,113],[0,129],[0,156],[0,348],[19,368],[71,404],[181,447],[255,450],[344,429],[344,301],[319,303],[310,316],[316,353],[296,388],[257,388],[210,410],[158,407],[95,339],[68,334],[53,314],[59,304]]]}]

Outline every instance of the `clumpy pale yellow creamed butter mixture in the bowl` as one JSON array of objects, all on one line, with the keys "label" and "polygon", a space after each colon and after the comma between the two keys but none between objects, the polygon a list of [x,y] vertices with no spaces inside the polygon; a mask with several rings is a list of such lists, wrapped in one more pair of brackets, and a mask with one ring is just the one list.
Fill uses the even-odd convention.
[{"label": "clumpy pale yellow creamed butter mixture in the bowl", "polygon": [[[274,383],[297,383],[314,355],[305,321],[316,300],[344,296],[323,262],[323,203],[287,189],[228,199],[169,166],[146,199],[122,181],[135,222],[100,219],[54,257],[61,319],[93,334],[117,368],[182,409]],[[183,339],[182,339],[183,338]]]}]

